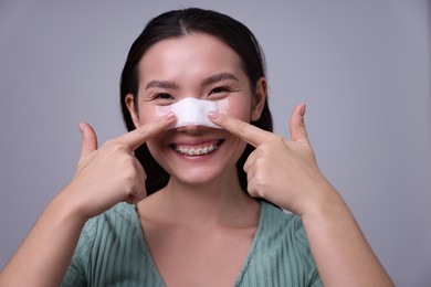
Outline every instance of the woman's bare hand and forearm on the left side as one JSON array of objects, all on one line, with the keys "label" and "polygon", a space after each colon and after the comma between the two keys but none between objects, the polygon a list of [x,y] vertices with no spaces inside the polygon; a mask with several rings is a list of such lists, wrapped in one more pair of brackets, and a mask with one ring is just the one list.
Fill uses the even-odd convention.
[{"label": "woman's bare hand and forearm on the left side", "polygon": [[133,151],[174,121],[175,116],[167,115],[99,149],[92,127],[80,124],[83,141],[75,177],[4,266],[0,286],[60,286],[85,222],[120,201],[136,203],[146,196],[145,172]]}]

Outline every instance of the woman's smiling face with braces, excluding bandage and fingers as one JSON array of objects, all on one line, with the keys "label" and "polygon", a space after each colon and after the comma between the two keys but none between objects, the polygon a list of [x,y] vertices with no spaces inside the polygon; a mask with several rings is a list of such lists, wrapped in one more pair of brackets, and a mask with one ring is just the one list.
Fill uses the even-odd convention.
[{"label": "woman's smiling face with braces, excluding bandage and fingers", "polygon": [[[204,33],[154,44],[140,60],[138,74],[137,111],[133,96],[126,97],[136,127],[155,120],[157,106],[186,97],[228,99],[227,114],[249,123],[260,117],[266,95],[264,79],[251,91],[240,56]],[[171,180],[206,184],[238,177],[235,162],[245,142],[223,129],[187,126],[168,129],[148,140],[147,146]]]}]

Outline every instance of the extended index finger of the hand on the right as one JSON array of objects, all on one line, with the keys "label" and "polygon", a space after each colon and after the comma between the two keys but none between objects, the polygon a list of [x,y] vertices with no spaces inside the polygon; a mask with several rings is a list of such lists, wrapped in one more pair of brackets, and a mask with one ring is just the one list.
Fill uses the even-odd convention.
[{"label": "extended index finger of the hand on the right", "polygon": [[216,116],[214,114],[209,114],[209,118],[216,125],[238,136],[255,148],[263,144],[267,137],[272,135],[272,132],[267,130],[260,129],[249,123],[228,115],[218,114]]}]

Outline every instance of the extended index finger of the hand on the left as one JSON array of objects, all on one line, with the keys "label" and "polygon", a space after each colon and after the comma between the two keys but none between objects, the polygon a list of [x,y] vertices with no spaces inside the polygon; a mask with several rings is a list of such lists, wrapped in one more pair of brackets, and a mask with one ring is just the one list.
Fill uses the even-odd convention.
[{"label": "extended index finger of the hand on the left", "polygon": [[117,140],[130,148],[130,150],[135,150],[151,137],[166,130],[171,124],[174,124],[174,121],[175,115],[174,113],[169,113],[151,123],[137,127],[136,129],[117,138]]}]

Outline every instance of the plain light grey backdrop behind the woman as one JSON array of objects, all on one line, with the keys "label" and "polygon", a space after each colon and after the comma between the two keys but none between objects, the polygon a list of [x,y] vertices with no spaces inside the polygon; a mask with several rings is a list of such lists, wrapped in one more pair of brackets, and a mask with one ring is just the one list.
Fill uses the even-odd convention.
[{"label": "plain light grey backdrop behind the woman", "polygon": [[295,104],[324,173],[398,286],[431,281],[430,2],[0,0],[0,267],[71,180],[77,123],[125,132],[118,78],[149,18],[233,15],[266,53],[276,132]]}]

